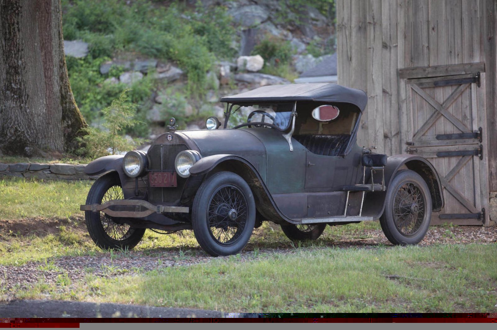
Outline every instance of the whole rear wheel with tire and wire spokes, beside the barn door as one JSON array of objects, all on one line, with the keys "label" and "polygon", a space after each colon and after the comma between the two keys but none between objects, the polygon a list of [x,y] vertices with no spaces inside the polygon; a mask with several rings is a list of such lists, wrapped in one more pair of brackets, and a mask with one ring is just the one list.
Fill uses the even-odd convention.
[{"label": "whole rear wheel with tire and wire spokes, beside the barn door", "polygon": [[423,178],[413,170],[399,171],[388,187],[381,228],[394,245],[419,243],[431,221],[431,196]]}]

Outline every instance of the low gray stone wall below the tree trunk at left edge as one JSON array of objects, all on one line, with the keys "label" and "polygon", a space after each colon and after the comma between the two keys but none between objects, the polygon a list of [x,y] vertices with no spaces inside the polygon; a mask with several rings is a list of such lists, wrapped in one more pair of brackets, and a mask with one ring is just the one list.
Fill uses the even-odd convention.
[{"label": "low gray stone wall below the tree trunk at left edge", "polygon": [[0,176],[17,176],[38,179],[55,180],[95,180],[99,175],[86,175],[84,167],[86,165],[72,164],[39,164],[39,163],[16,163],[1,164]]}]

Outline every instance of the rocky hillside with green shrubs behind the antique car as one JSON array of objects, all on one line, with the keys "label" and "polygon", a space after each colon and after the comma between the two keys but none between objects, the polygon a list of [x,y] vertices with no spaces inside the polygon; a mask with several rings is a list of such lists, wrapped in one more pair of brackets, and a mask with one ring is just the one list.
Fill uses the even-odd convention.
[{"label": "rocky hillside with green shrubs behind the antique car", "polygon": [[63,1],[71,84],[93,127],[130,88],[142,126],[128,134],[153,138],[171,115],[180,128],[203,128],[222,117],[220,97],[291,83],[334,52],[333,0],[110,2]]}]

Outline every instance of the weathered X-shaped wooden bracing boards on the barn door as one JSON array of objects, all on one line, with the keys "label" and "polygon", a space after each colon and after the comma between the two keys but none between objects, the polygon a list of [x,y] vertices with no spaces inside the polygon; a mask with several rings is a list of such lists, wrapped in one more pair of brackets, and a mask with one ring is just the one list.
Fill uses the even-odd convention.
[{"label": "weathered X-shaped wooden bracing boards on the barn door", "polygon": [[[424,122],[421,127],[416,131],[413,136],[412,142],[407,142],[410,146],[408,152],[419,154],[426,158],[439,158],[439,157],[454,157],[462,156],[458,163],[447,173],[445,176],[440,176],[440,183],[442,186],[454,196],[459,203],[461,203],[471,213],[452,213],[440,214],[440,219],[485,219],[485,209],[480,212],[476,209],[471,201],[469,201],[463,194],[461,194],[449,181],[458,173],[464,165],[466,165],[473,156],[479,156],[483,159],[483,146],[476,144],[477,141],[482,142],[482,128],[478,131],[472,132],[465,124],[449,112],[449,107],[454,101],[462,95],[462,93],[471,85],[471,83],[480,82],[480,75],[462,75],[452,77],[440,77],[431,79],[415,79],[409,85],[419,96],[421,96],[428,104],[430,104],[436,111]],[[446,85],[460,84],[447,99],[440,104],[431,95],[426,93],[421,87],[439,87]],[[455,134],[437,134],[435,139],[433,137],[423,136],[432,125],[441,117],[444,116],[462,133]],[[475,148],[476,145],[476,148]],[[447,150],[451,146],[451,150]],[[416,148],[421,147],[421,148]],[[427,148],[422,148],[427,147]],[[443,148],[445,150],[440,150]]]}]

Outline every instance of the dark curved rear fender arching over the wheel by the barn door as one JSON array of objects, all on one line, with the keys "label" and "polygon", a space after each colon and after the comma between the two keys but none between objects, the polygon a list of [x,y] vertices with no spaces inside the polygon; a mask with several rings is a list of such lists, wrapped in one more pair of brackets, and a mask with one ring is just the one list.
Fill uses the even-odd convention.
[{"label": "dark curved rear fender arching over the wheel by the barn door", "polygon": [[[418,173],[424,179],[430,190],[432,211],[440,211],[444,204],[440,179],[433,165],[422,157],[407,154],[389,157],[387,165],[385,166],[385,183],[387,191],[395,174],[405,167],[414,170],[414,172]],[[379,218],[383,214],[385,208],[386,195],[386,191],[368,193],[364,199],[363,215]]]}]

